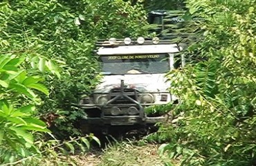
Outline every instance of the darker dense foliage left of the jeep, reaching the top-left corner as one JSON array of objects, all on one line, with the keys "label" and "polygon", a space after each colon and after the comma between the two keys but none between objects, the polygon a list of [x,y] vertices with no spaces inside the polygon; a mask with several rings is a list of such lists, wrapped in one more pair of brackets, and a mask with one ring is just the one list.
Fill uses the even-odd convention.
[{"label": "darker dense foliage left of the jeep, reaching the top-left corner", "polygon": [[27,72],[40,72],[49,95],[39,115],[58,137],[79,135],[73,123],[86,115],[74,107],[77,93],[100,79],[95,41],[146,34],[142,9],[118,0],[1,2],[0,52],[24,55]]}]

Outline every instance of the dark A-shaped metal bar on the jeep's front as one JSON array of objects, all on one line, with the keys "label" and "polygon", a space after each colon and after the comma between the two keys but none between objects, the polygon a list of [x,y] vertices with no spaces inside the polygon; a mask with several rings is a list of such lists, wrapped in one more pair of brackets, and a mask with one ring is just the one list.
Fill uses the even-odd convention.
[{"label": "dark A-shaped metal bar on the jeep's front", "polygon": [[[138,105],[139,107],[139,115],[140,118],[143,118],[145,113],[144,113],[144,109],[143,106],[140,104],[140,102],[134,100],[133,98],[130,98],[128,95],[125,94],[125,83],[124,80],[121,80],[121,85],[120,85],[120,94],[116,95],[116,97],[114,97],[113,99],[109,100],[108,102],[106,102],[103,106],[102,106],[102,110],[107,107],[109,104],[111,104],[112,102],[118,100],[119,98],[127,98],[128,100],[130,100],[131,102],[134,102],[136,105]],[[101,113],[101,118],[104,118],[104,111],[102,111]]]}]

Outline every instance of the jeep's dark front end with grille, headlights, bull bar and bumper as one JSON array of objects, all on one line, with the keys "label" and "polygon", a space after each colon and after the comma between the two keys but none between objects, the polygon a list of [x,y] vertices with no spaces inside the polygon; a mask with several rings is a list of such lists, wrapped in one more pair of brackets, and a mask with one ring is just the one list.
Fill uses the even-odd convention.
[{"label": "jeep's dark front end with grille, headlights, bull bar and bumper", "polygon": [[153,100],[151,93],[127,88],[121,80],[120,87],[111,89],[109,93],[93,93],[93,99],[82,100],[80,108],[87,113],[87,118],[83,120],[86,124],[118,126],[165,121],[164,116],[147,117],[144,109],[154,105]]}]

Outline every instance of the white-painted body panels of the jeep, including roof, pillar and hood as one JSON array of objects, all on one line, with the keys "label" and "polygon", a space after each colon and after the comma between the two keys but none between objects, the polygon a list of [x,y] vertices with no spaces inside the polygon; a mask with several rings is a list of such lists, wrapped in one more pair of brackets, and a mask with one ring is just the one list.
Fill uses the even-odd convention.
[{"label": "white-painted body panels of the jeep, including roof, pillar and hood", "polygon": [[[179,53],[182,48],[178,48],[176,44],[159,44],[159,45],[137,45],[137,46],[118,46],[113,48],[101,47],[98,49],[98,55],[138,55],[138,54],[156,54],[167,53],[169,55],[170,70],[174,68],[174,53]],[[172,100],[177,100],[173,95],[170,95],[168,88],[170,82],[165,78],[166,73],[148,73],[148,74],[130,74],[125,75],[104,75],[102,83],[96,87],[97,92],[108,92],[111,85],[119,84],[124,80],[128,85],[143,85],[149,92],[159,92],[156,95],[154,104],[167,104]],[[161,102],[161,93],[167,93],[167,101]]]}]

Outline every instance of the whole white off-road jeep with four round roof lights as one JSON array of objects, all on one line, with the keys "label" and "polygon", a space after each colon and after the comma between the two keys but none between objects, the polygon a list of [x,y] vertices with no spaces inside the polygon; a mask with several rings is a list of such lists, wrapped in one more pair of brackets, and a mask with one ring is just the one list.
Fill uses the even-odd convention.
[{"label": "whole white off-road jeep with four round roof lights", "polygon": [[97,46],[103,77],[93,93],[82,95],[79,105],[87,114],[82,129],[107,133],[113,126],[163,122],[164,116],[149,117],[145,108],[177,100],[167,90],[165,74],[175,68],[174,57],[182,48],[158,37],[111,38]]}]

